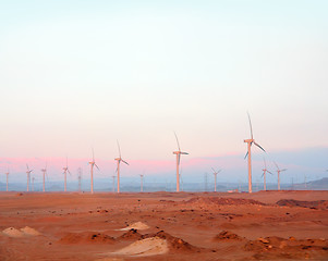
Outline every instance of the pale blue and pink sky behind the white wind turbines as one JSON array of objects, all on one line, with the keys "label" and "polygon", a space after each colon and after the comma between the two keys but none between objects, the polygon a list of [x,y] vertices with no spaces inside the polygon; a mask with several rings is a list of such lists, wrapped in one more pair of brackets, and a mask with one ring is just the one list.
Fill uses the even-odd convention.
[{"label": "pale blue and pink sky behind the white wind turbines", "polygon": [[288,167],[288,179],[327,175],[327,9],[0,0],[0,173],[21,181],[29,163],[40,176],[47,161],[62,178],[65,157],[86,173],[94,148],[97,175],[111,176],[119,140],[131,163],[123,176],[173,179],[175,132],[190,153],[185,179],[214,166],[222,181],[246,181],[248,112],[267,151],[253,148],[257,177],[263,157]]}]

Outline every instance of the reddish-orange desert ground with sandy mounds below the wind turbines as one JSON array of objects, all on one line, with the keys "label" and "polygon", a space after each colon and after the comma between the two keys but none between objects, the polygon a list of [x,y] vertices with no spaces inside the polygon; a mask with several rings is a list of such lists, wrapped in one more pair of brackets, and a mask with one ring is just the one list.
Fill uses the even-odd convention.
[{"label": "reddish-orange desert ground with sandy mounds below the wind turbines", "polygon": [[328,260],[328,191],[0,192],[0,260]]}]

